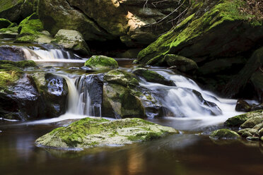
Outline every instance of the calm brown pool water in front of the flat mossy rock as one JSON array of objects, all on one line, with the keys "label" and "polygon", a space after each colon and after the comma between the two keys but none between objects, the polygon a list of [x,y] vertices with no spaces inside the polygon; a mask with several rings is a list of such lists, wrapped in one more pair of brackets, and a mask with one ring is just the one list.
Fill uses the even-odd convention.
[{"label": "calm brown pool water in front of the flat mossy rock", "polygon": [[263,144],[260,147],[259,142],[216,143],[207,135],[193,132],[84,151],[35,146],[36,138],[56,127],[54,124],[0,126],[0,173],[263,174]]}]

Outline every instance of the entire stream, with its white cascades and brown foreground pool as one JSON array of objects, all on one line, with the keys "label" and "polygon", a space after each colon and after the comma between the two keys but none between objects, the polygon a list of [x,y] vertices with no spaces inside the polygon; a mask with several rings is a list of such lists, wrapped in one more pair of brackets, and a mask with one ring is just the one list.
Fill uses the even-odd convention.
[{"label": "entire stream, with its white cascades and brown foreground pool", "polygon": [[[95,74],[83,66],[85,59],[61,49],[23,48],[26,59],[36,60],[40,70],[66,79],[69,87],[66,114],[30,122],[0,121],[1,174],[262,174],[263,145],[240,140],[216,142],[209,133],[239,113],[235,99],[222,99],[201,90],[193,80],[162,68],[151,68],[173,80],[175,87],[149,83],[166,111],[148,121],[181,131],[160,140],[123,147],[98,147],[83,151],[54,150],[35,146],[35,139],[59,126],[86,116],[101,116]],[[117,59],[130,71],[132,60]],[[96,77],[98,78],[98,77]]]}]

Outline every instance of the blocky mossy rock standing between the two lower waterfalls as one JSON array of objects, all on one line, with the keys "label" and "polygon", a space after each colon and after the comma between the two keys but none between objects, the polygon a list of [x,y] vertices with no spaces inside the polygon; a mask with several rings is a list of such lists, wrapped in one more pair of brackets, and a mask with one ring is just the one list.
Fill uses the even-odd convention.
[{"label": "blocky mossy rock standing between the two lower waterfalls", "polygon": [[125,117],[144,117],[145,109],[135,90],[139,85],[135,76],[121,70],[105,74],[103,85],[103,116],[117,119]]}]

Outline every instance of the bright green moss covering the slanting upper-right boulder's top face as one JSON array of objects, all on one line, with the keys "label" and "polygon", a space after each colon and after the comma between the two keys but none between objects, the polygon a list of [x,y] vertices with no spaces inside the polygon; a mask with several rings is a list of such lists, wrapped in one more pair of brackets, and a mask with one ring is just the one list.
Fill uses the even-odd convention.
[{"label": "bright green moss covering the slanting upper-right boulder's top face", "polygon": [[[194,4],[194,6],[199,6],[200,8],[201,5]],[[177,52],[180,52],[183,47],[191,45],[193,40],[198,40],[204,34],[207,34],[208,39],[206,42],[209,42],[209,37],[211,37],[209,32],[215,28],[219,28],[221,25],[245,22],[251,28],[262,26],[262,20],[257,20],[255,16],[240,12],[240,7],[242,6],[247,5],[241,0],[221,0],[201,17],[196,13],[192,14],[173,28],[173,30],[160,36],[156,42],[153,42],[146,49],[139,52],[139,62],[162,66],[165,54],[178,54]],[[190,49],[187,53],[189,54],[189,52],[193,51]]]}]

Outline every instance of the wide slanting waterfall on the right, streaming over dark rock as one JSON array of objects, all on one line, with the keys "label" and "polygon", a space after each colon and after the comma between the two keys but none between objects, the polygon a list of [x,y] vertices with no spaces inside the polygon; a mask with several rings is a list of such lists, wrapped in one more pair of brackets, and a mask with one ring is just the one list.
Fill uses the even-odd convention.
[{"label": "wide slanting waterfall on the right, streaming over dark rock", "polygon": [[160,96],[163,107],[167,109],[166,116],[171,116],[172,113],[176,117],[200,119],[207,116],[228,118],[239,114],[235,111],[235,99],[216,97],[211,92],[201,90],[194,80],[184,76],[163,70],[156,72],[168,80],[173,80],[176,86],[148,83],[145,80],[141,81],[141,85]]}]

